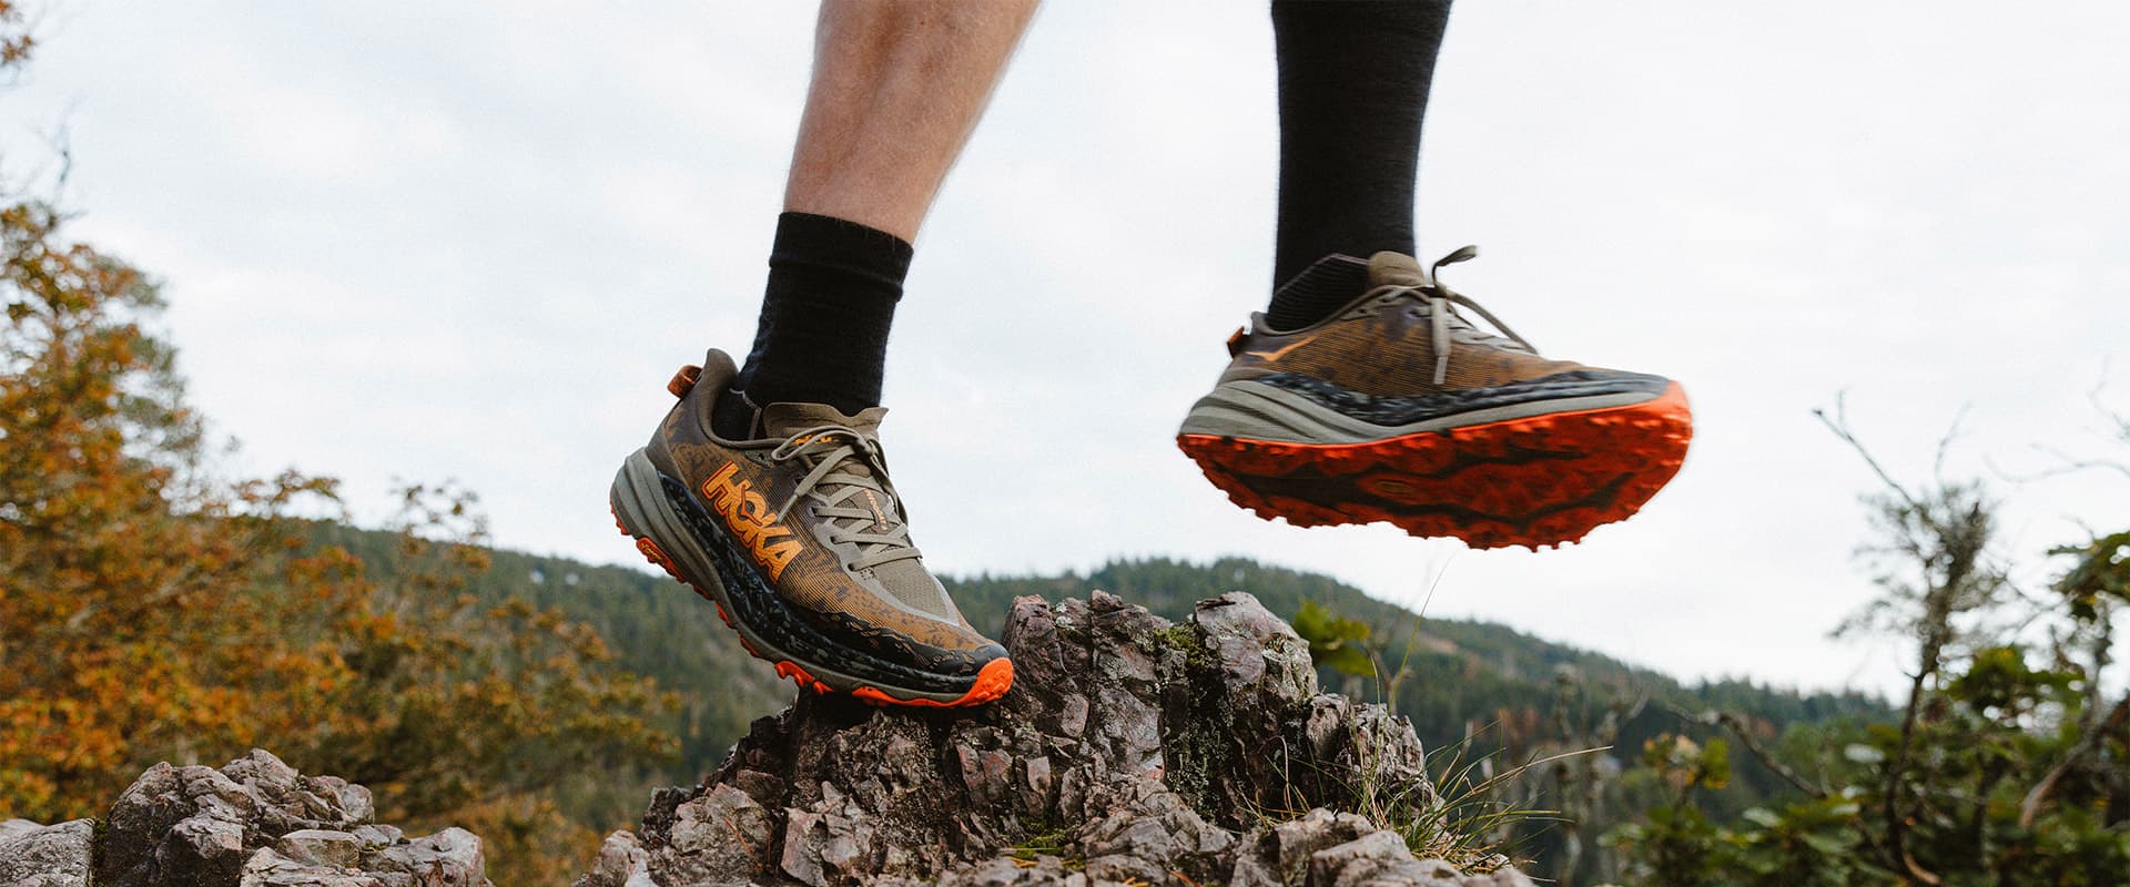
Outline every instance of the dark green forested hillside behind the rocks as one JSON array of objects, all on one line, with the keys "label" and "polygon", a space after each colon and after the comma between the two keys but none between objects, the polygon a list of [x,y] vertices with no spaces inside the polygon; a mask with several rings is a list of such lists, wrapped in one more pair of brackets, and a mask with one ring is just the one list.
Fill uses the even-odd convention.
[{"label": "dark green forested hillside behind the rocks", "polygon": [[[320,523],[315,538],[349,549],[373,572],[396,568],[392,534]],[[618,540],[616,547],[620,545]],[[1016,596],[1061,600],[1086,598],[1093,589],[1169,619],[1184,617],[1201,598],[1242,589],[1289,621],[1306,602],[1363,621],[1387,664],[1404,668],[1391,700],[1395,710],[1412,719],[1427,747],[1442,757],[1444,770],[1451,757],[1482,759],[1487,772],[1502,772],[1546,755],[1619,749],[1576,755],[1568,766],[1531,772],[1495,789],[1502,804],[1542,810],[1561,810],[1563,791],[1595,793],[1580,808],[1568,810],[1580,817],[1572,830],[1585,840],[1653,800],[1615,779],[1634,766],[1646,740],[1659,734],[1713,736],[1713,725],[1689,723],[1693,715],[1742,715],[1749,730],[1768,744],[1781,744],[1791,727],[1891,717],[1885,702],[1857,693],[1798,693],[1740,681],[1681,685],[1666,674],[1531,638],[1506,625],[1423,619],[1329,576],[1240,557],[1212,564],[1135,559],[1112,562],[1088,574],[948,576],[946,583],[969,621],[986,632],[1003,625],[1005,608]],[[707,602],[665,574],[494,551],[492,566],[466,589],[490,602],[520,598],[539,608],[560,608],[599,630],[618,655],[616,666],[652,676],[658,687],[679,696],[667,727],[679,738],[682,755],[665,768],[648,770],[652,783],[692,785],[718,766],[754,717],[775,713],[792,693],[788,683],[739,649],[735,634],[718,623]],[[1318,679],[1325,689],[1367,700],[1378,700],[1384,691],[1384,681],[1333,668],[1321,668]],[[1753,759],[1740,759],[1732,791],[1704,796],[1702,802],[1713,817],[1727,819],[1783,789],[1776,774]],[[603,802],[579,800],[567,808],[624,817],[635,813],[626,808],[635,796],[613,791]],[[1546,821],[1531,821],[1510,838],[1525,853],[1544,857],[1559,851],[1561,832]]]}]

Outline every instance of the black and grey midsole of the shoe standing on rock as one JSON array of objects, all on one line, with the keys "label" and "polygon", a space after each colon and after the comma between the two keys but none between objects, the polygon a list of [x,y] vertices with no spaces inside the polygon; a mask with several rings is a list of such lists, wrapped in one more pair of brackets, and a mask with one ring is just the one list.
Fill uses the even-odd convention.
[{"label": "black and grey midsole of the shoe standing on rock", "polygon": [[[805,619],[790,613],[775,589],[743,566],[737,545],[718,532],[688,487],[665,476],[641,449],[613,474],[609,498],[622,525],[635,536],[658,542],[690,585],[716,596],[733,617],[733,627],[765,659],[788,659],[816,681],[843,691],[875,687],[937,702],[954,702],[976,683],[965,676],[920,672],[820,636]],[[711,542],[705,545],[694,528],[703,528]],[[748,587],[735,589],[722,576],[735,576]],[[831,666],[831,657],[843,666]]]}]

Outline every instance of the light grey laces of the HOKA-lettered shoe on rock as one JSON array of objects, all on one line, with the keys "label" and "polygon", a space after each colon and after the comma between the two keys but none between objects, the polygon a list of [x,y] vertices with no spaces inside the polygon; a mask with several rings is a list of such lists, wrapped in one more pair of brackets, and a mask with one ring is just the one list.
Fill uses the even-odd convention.
[{"label": "light grey laces of the HOKA-lettered shoe on rock", "polygon": [[[895,485],[888,483],[888,464],[873,438],[848,425],[814,425],[784,438],[777,449],[769,451],[769,457],[775,462],[812,459],[814,470],[799,479],[792,496],[777,508],[775,519],[784,521],[784,515],[790,515],[792,506],[803,498],[818,502],[814,515],[824,517],[822,523],[829,528],[826,542],[852,542],[858,547],[858,559],[846,564],[850,570],[871,570],[882,564],[922,557],[916,545],[910,542],[910,528],[901,521]],[[867,472],[848,470],[846,466],[852,462],[865,466]],[[880,493],[880,498],[871,500],[873,508],[848,504],[863,491]],[[871,530],[873,523],[884,523],[888,530],[875,532]]]}]

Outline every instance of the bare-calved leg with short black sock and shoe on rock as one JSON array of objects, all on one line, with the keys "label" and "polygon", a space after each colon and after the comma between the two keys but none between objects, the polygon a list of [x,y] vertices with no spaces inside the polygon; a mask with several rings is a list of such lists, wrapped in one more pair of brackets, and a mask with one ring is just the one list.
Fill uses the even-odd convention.
[{"label": "bare-calved leg with short black sock and shoe on rock", "polygon": [[637,549],[814,691],[969,706],[1005,649],[922,564],[880,447],[880,366],[912,245],[1033,0],[829,0],[748,366],[682,368],[613,479]]}]

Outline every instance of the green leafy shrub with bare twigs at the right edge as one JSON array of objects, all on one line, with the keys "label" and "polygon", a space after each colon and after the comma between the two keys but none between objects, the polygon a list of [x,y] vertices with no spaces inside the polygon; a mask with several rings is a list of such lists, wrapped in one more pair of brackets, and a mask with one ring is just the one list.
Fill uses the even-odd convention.
[{"label": "green leafy shrub with bare twigs at the right edge", "polygon": [[[2130,600],[2130,532],[2058,549],[2072,557],[2058,596],[2024,596],[1992,555],[1994,500],[1981,481],[1934,472],[1928,485],[1902,485],[1847,423],[1823,419],[1883,483],[1866,498],[1879,542],[1864,549],[1883,593],[1845,627],[1915,642],[1900,721],[1798,736],[1785,744],[1802,753],[1785,762],[1734,715],[1700,715],[1804,800],[1747,810],[1734,825],[1657,808],[1615,830],[1615,844],[1642,883],[1678,883],[1681,861],[1744,885],[2121,883],[2130,696],[2107,704],[2100,679],[2111,615]],[[2045,642],[2036,625],[2049,627]]]}]

